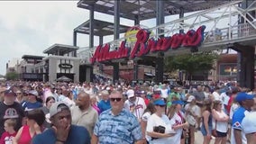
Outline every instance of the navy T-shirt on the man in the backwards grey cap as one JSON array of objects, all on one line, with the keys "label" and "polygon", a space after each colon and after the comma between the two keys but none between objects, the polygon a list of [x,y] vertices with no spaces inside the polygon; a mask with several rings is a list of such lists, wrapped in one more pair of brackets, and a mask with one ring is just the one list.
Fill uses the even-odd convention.
[{"label": "navy T-shirt on the man in the backwards grey cap", "polygon": [[[32,139],[32,144],[55,144],[55,142],[56,135],[52,128],[34,136]],[[89,132],[84,127],[71,125],[69,137],[65,144],[90,144]]]}]

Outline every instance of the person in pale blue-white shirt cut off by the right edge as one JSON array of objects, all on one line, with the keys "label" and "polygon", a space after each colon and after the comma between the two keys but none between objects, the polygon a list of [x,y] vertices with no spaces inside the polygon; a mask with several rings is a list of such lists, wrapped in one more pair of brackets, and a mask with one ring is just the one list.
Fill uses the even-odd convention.
[{"label": "person in pale blue-white shirt cut off by the right edge", "polygon": [[242,129],[247,139],[247,144],[255,144],[256,141],[256,112],[250,112],[242,120]]}]

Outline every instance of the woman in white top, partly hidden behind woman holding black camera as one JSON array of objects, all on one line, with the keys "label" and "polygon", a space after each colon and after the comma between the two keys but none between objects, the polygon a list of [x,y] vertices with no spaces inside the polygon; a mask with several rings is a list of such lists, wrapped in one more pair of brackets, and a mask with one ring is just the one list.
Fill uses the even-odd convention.
[{"label": "woman in white top, partly hidden behind woman holding black camera", "polygon": [[[155,105],[153,103],[149,103],[142,115],[141,126],[142,126],[142,138],[143,139],[146,139],[145,135],[146,135],[147,122],[148,122],[151,114],[154,112],[156,112]],[[147,139],[147,141],[149,141],[149,139]]]}]

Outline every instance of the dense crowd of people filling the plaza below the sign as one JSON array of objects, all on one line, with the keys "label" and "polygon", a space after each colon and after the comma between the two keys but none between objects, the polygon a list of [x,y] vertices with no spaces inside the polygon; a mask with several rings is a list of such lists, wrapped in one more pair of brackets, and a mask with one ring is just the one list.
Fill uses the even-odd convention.
[{"label": "dense crowd of people filling the plaza below the sign", "polygon": [[256,93],[233,84],[5,82],[0,144],[252,144]]}]

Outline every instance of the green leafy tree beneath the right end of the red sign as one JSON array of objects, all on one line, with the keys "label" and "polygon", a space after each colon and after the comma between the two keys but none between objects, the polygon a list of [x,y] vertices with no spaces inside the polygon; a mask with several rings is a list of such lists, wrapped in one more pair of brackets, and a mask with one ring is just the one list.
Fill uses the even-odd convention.
[{"label": "green leafy tree beneath the right end of the red sign", "polygon": [[211,70],[217,58],[218,54],[214,51],[172,56],[165,58],[165,71],[184,70],[189,76],[187,79],[191,80],[196,71]]}]

